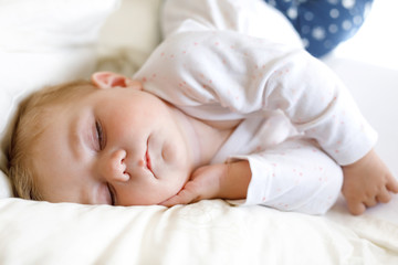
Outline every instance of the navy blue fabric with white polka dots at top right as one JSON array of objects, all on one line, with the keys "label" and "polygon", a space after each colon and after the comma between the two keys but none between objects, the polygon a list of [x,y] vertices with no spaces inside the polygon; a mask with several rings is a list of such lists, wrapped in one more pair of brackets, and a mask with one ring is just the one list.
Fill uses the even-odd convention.
[{"label": "navy blue fabric with white polka dots at top right", "polygon": [[373,0],[264,0],[280,10],[315,57],[353,36],[364,23]]}]

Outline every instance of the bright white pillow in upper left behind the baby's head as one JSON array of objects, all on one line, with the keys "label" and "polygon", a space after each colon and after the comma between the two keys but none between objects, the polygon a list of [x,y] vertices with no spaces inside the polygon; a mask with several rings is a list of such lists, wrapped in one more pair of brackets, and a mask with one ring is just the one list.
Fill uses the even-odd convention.
[{"label": "bright white pillow in upper left behind the baby's head", "polygon": [[[87,77],[101,26],[121,0],[0,1],[0,169],[10,116],[30,92]],[[0,194],[9,189],[1,173]],[[6,183],[4,183],[6,182]]]}]

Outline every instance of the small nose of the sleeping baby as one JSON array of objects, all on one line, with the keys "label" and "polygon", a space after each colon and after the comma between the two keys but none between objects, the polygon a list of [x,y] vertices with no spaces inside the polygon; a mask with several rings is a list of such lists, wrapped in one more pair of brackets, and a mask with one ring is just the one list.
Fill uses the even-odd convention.
[{"label": "small nose of the sleeping baby", "polygon": [[107,181],[125,182],[129,180],[129,174],[126,172],[126,151],[116,150],[109,153],[105,160],[105,167],[103,167],[103,174]]}]

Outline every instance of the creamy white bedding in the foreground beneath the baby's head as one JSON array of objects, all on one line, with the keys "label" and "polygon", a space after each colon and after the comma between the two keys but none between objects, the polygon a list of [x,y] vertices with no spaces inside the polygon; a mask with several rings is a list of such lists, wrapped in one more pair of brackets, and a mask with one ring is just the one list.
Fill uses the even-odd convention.
[{"label": "creamy white bedding in the foreground beneath the baby's head", "polygon": [[312,216],[222,200],[166,209],[6,199],[0,212],[4,265],[398,264],[398,223],[339,203]]}]

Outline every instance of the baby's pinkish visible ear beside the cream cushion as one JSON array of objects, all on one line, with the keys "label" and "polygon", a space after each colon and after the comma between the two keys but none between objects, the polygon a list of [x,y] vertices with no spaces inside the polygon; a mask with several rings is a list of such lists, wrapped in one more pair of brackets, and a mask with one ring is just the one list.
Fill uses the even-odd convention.
[{"label": "baby's pinkish visible ear beside the cream cushion", "polygon": [[127,76],[113,72],[96,72],[92,75],[92,82],[96,87],[103,89],[113,87],[143,89],[143,85],[139,81],[134,81]]}]

